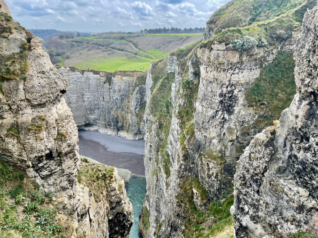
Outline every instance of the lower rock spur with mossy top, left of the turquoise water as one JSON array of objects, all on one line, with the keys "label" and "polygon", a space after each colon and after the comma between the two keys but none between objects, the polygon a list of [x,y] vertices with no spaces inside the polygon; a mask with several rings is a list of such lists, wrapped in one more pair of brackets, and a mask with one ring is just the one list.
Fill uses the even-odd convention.
[{"label": "lower rock spur with mossy top, left of the turquoise water", "polygon": [[[99,179],[103,179],[98,185],[100,189],[96,188],[98,178],[91,176],[95,171],[99,171]],[[59,210],[74,214],[70,218],[73,237],[129,237],[134,221],[133,208],[117,170],[102,164],[81,162],[80,174],[81,184],[53,199]]]}]

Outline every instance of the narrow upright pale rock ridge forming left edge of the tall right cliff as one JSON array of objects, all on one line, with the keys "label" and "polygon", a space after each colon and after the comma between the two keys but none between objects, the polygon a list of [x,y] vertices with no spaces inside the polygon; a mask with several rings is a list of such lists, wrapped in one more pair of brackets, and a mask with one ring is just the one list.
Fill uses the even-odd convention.
[{"label": "narrow upright pale rock ridge forming left edge of the tall right cliff", "polygon": [[[185,62],[183,67],[186,66],[189,69],[187,75],[183,74],[180,60],[183,60],[183,63]],[[188,90],[183,89],[182,81],[198,82],[198,64],[196,48],[194,49],[192,46],[188,54],[181,57],[172,54],[166,60],[152,63],[148,71],[146,81],[147,106],[144,117],[144,163],[147,193],[140,216],[139,228],[143,237],[181,237],[184,222],[189,219],[189,214],[185,214],[186,211],[182,210],[177,195],[180,191],[181,179],[185,176],[196,176],[197,170],[195,169],[195,156],[191,151],[184,151],[179,140],[183,130],[180,125],[182,117],[178,115],[178,111],[187,107],[189,103],[183,97]],[[171,85],[171,93],[168,93],[169,101],[172,104],[168,135],[162,133],[164,129],[162,129],[160,116],[159,119],[158,116],[154,117],[152,110],[149,109],[149,102],[155,100],[154,98],[151,99],[152,94],[156,94],[152,91],[156,90],[152,88],[152,85],[153,80],[158,80],[157,76],[154,75],[158,69],[174,75],[171,84],[169,84]],[[167,142],[163,147],[162,143],[165,143],[165,140]],[[167,160],[167,158],[169,159]],[[148,215],[145,216],[145,214]],[[149,224],[149,227],[146,227],[145,224]],[[160,227],[160,230],[158,227]]]}]

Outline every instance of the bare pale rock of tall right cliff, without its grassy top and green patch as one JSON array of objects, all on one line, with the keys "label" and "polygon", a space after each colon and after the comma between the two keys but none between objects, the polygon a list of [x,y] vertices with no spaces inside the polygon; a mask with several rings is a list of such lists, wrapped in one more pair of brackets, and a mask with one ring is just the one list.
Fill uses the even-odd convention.
[{"label": "bare pale rock of tall right cliff, without its grassy top and green patch", "polygon": [[[248,107],[245,92],[259,77],[261,67],[271,63],[280,50],[294,49],[298,34],[295,28],[287,41],[249,53],[218,42],[202,44],[181,56],[177,52],[183,50],[174,52],[164,68],[174,73],[173,82],[166,83],[170,100],[162,109],[162,114],[169,114],[165,118],[151,109],[164,61],[150,66],[144,117],[147,194],[140,223],[143,237],[184,235],[185,222],[195,219],[182,198],[181,186],[187,180],[198,177],[209,196],[202,198],[200,191],[192,189],[191,202],[197,211],[208,211],[211,200],[228,193],[237,160],[259,132],[249,126],[260,114]],[[199,86],[188,87],[191,84],[185,82],[198,82]],[[190,101],[195,106],[189,107]]]}]

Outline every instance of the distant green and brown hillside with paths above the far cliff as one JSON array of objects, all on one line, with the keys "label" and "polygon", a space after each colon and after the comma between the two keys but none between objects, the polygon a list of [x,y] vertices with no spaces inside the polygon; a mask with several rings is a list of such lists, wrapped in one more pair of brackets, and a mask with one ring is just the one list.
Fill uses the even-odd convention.
[{"label": "distant green and brown hillside with paths above the far cliff", "polygon": [[201,33],[106,35],[66,40],[50,36],[44,46],[53,64],[109,72],[144,71],[153,60],[163,59],[173,50],[201,39]]}]

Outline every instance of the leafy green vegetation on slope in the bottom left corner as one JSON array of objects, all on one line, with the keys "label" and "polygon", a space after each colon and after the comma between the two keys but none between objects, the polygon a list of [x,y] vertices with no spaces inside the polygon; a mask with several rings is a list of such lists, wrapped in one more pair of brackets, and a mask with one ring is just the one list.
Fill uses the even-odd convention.
[{"label": "leafy green vegetation on slope in the bottom left corner", "polygon": [[52,196],[37,191],[27,178],[24,183],[20,172],[0,158],[0,237],[67,237],[57,210],[50,208]]}]

